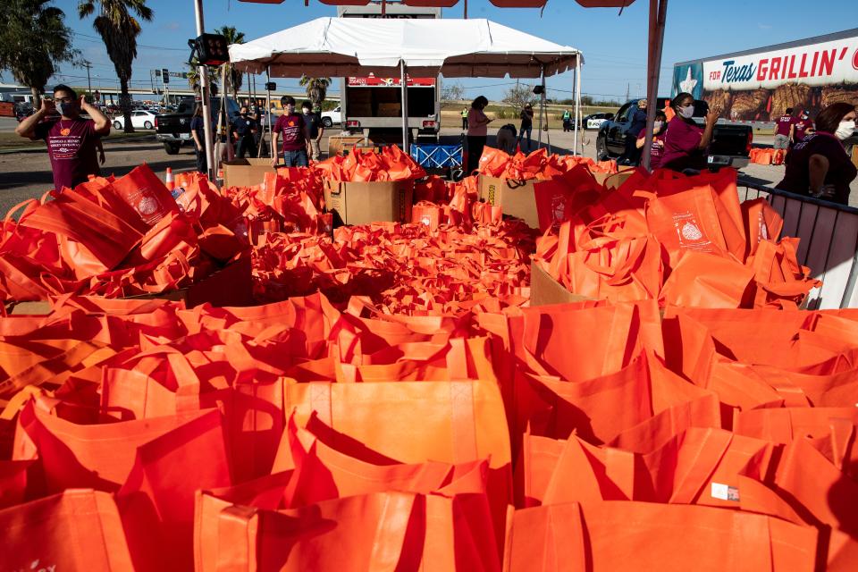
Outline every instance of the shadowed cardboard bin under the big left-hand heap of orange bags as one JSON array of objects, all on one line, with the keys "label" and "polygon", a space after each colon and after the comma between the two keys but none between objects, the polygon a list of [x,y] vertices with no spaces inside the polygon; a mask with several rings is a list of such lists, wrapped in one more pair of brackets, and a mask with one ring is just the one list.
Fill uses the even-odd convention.
[{"label": "shadowed cardboard bin under the big left-hand heap of orange bags", "polygon": [[[140,294],[125,299],[184,301],[186,307],[196,307],[206,302],[214,307],[252,306],[255,301],[251,270],[250,257],[243,257],[187,288],[156,294]],[[47,300],[18,302],[9,309],[9,313],[11,315],[46,315],[51,313],[51,303]]]}]

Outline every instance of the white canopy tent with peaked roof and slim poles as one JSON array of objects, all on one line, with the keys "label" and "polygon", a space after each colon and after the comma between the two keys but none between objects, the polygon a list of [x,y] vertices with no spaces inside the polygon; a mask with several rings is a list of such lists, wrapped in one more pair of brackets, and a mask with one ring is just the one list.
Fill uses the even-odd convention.
[{"label": "white canopy tent with peaked roof and slim poles", "polygon": [[[544,78],[576,71],[580,123],[580,50],[488,20],[318,18],[247,44],[230,46],[236,69],[273,77],[351,77],[398,71],[403,143],[408,141],[407,74],[445,78]],[[544,96],[543,96],[544,97]]]}]

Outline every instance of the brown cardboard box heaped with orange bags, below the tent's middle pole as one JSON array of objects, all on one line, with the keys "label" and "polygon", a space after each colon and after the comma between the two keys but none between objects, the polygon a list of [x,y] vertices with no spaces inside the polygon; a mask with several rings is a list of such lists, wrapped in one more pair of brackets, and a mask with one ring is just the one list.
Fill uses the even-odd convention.
[{"label": "brown cardboard box heaped with orange bags, below the tent's middle pole", "polygon": [[324,181],[324,204],[345,224],[409,223],[413,200],[414,181]]}]

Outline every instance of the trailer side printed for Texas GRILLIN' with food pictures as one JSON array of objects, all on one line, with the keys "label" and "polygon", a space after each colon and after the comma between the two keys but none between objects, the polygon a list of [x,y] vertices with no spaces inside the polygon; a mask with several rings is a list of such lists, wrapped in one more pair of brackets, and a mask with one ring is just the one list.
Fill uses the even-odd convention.
[{"label": "trailer side printed for Texas GRILLIN' with food pictures", "polygon": [[790,107],[813,118],[831,103],[858,105],[858,29],[677,63],[673,95],[682,91],[729,121],[767,126]]}]

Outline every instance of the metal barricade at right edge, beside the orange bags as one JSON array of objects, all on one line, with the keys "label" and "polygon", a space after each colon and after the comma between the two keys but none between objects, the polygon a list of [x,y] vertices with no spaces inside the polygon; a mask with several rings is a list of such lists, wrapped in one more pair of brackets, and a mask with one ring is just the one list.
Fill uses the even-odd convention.
[{"label": "metal barricade at right edge, beside the orange bags", "polygon": [[781,236],[801,239],[798,261],[822,281],[809,309],[858,307],[858,208],[739,179],[739,200],[765,198],[784,219]]}]

